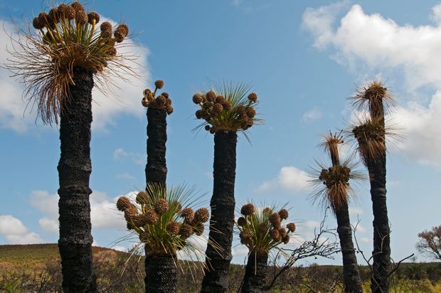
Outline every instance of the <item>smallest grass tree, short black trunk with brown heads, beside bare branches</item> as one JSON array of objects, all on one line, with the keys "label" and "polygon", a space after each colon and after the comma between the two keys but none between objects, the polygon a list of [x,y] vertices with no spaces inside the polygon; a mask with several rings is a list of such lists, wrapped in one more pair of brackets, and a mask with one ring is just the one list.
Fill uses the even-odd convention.
[{"label": "smallest grass tree, short black trunk with brown heads, beside bare branches", "polygon": [[266,292],[268,255],[271,250],[280,250],[282,243],[289,243],[289,235],[294,233],[296,225],[283,225],[289,216],[285,208],[277,212],[274,206],[255,208],[253,203],[247,203],[240,214],[237,221],[240,243],[249,250],[242,292]]}]

